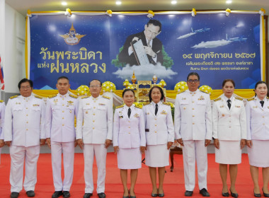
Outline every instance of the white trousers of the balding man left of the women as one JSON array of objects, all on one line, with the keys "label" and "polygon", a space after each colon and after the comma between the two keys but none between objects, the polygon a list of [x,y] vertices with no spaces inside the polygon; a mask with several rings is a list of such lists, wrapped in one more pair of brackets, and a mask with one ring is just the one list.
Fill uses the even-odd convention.
[{"label": "white trousers of the balding man left of the women", "polygon": [[105,192],[105,144],[84,144],[85,193],[93,193],[93,157],[96,156],[98,168],[97,193]]}]

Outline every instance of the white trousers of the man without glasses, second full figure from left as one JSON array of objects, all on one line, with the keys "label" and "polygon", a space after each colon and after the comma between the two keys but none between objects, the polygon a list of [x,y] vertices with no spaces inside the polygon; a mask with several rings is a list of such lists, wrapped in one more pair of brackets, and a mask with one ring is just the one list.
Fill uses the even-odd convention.
[{"label": "white trousers of the man without glasses, second full figure from left", "polygon": [[[52,175],[55,191],[69,191],[74,173],[74,141],[51,142]],[[62,182],[62,153],[64,157],[64,182]]]}]

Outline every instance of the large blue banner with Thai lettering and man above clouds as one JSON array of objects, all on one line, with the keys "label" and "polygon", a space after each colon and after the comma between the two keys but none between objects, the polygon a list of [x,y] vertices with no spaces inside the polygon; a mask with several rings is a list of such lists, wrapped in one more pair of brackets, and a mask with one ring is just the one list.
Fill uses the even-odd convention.
[{"label": "large blue banner with Thai lettering and man above clouds", "polygon": [[[220,89],[225,78],[236,88],[261,80],[259,13],[145,15],[33,15],[30,27],[30,79],[35,89],[55,89],[59,76],[71,89],[92,79],[112,81],[117,89],[130,80],[164,79],[173,89],[198,72],[202,85]],[[156,22],[157,21],[157,22]],[[160,25],[161,24],[161,25]],[[131,42],[142,41],[135,53]],[[139,64],[144,55],[147,64]]]}]

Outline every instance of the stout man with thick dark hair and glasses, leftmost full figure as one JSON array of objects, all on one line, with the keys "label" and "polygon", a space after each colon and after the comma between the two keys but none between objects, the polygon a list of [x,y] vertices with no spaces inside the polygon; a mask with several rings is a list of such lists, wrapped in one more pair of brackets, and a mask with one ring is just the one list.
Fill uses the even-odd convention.
[{"label": "stout man with thick dark hair and glasses, leftmost full figure", "polygon": [[18,89],[21,95],[8,100],[4,123],[4,140],[11,156],[11,198],[18,197],[23,188],[28,197],[35,197],[40,145],[45,144],[45,102],[32,95],[31,80],[23,78]]}]

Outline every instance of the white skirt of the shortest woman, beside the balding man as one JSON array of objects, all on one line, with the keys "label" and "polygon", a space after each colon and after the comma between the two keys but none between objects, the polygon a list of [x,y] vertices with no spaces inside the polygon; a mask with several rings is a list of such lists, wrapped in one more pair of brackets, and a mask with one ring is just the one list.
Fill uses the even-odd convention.
[{"label": "white skirt of the shortest woman, beside the balding man", "polygon": [[118,168],[120,169],[141,168],[142,154],[140,148],[119,148],[117,158]]}]

